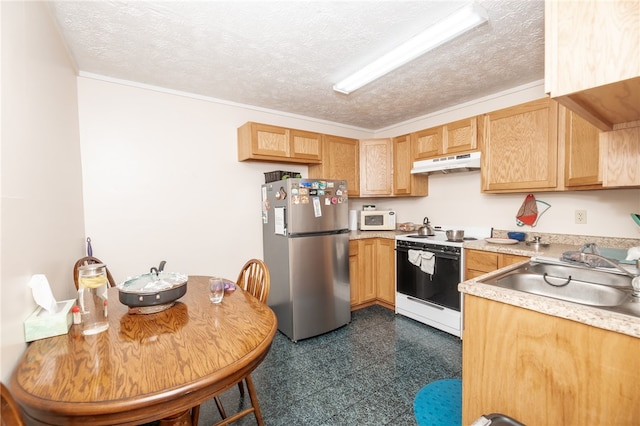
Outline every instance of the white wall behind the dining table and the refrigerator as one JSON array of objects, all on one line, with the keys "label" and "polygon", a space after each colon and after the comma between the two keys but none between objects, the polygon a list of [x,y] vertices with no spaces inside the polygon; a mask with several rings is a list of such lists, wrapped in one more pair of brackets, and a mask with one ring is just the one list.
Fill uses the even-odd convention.
[{"label": "white wall behind the dining table and the refrigerator", "polygon": [[262,257],[260,185],[290,164],[237,161],[247,121],[355,138],[371,133],[259,109],[78,79],[85,223],[116,281],[169,271],[235,279]]}]

